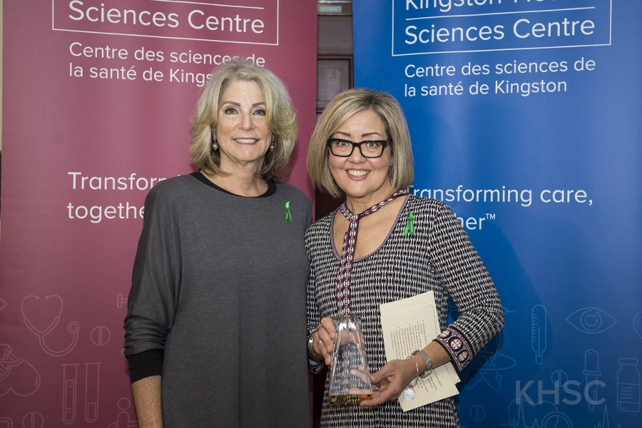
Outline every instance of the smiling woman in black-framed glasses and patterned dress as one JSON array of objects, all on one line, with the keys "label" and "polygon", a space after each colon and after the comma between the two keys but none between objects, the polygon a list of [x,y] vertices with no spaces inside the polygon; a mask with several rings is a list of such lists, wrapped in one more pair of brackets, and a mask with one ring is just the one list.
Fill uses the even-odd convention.
[{"label": "smiling woman in black-framed glasses and patterned dress", "polygon": [[[447,205],[407,192],[412,151],[397,101],[366,89],[340,93],[312,133],[307,167],[317,188],[345,198],[305,235],[310,365],[313,372],[330,365],[335,321],[352,314],[361,318],[373,372],[372,395],[358,405],[331,404],[325,394],[321,427],[459,427],[452,398],[402,412],[397,397],[434,367],[466,367],[501,330],[501,304]],[[434,292],[442,333],[409,357],[386,362],[379,305],[427,291]],[[449,297],[459,317],[448,325]]]}]

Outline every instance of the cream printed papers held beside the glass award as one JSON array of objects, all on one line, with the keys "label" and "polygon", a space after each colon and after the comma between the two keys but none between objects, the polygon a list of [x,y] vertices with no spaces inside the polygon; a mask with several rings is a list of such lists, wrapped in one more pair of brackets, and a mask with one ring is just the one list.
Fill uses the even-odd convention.
[{"label": "cream printed papers held beside the glass award", "polygon": [[[386,360],[403,360],[439,335],[439,317],[432,291],[384,303],[380,306]],[[399,396],[402,410],[416,409],[440,399],[459,394],[455,384],[459,376],[452,363],[439,366],[426,378],[417,379],[412,398]]]}]

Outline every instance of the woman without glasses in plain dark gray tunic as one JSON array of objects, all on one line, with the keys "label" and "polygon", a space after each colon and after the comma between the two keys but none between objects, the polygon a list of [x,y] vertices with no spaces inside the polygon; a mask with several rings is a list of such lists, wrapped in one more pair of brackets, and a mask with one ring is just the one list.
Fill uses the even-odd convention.
[{"label": "woman without glasses in plain dark gray tunic", "polygon": [[146,198],[125,320],[141,427],[310,426],[311,206],[277,181],[296,136],[271,71],[235,59],[212,73],[192,122],[199,170]]}]

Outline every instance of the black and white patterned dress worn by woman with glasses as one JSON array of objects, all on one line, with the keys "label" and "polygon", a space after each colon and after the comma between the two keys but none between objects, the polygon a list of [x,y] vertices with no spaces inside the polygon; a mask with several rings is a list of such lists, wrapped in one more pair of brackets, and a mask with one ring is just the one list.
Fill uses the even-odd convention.
[{"label": "black and white patterned dress worn by woman with glasses", "polygon": [[[404,236],[411,212],[415,233]],[[310,332],[321,317],[337,316],[340,258],[332,240],[335,213],[317,221],[305,236],[310,255]],[[382,303],[432,290],[442,329],[435,340],[449,352],[458,372],[503,326],[501,303],[484,263],[452,210],[437,200],[407,196],[382,245],[353,263],[351,308],[362,317],[371,372],[386,362],[379,313]],[[451,325],[446,325],[448,297],[459,311]],[[459,427],[459,418],[452,399],[402,412],[396,399],[378,407],[355,407],[330,404],[325,394],[321,427]]]}]

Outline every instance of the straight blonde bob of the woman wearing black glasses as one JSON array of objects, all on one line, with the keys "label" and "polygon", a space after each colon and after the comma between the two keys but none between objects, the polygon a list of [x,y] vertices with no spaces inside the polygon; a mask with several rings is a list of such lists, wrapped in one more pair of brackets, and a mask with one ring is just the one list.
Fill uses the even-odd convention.
[{"label": "straight blonde bob of the woman wearing black glasses", "polygon": [[327,139],[355,113],[372,109],[384,123],[388,135],[388,147],[392,161],[392,188],[402,190],[412,184],[414,167],[412,146],[406,118],[399,103],[392,95],[370,89],[353,88],[335,96],[321,114],[315,131],[312,132],[307,151],[307,172],[317,189],[342,198],[343,191],[337,186],[330,173]]}]

